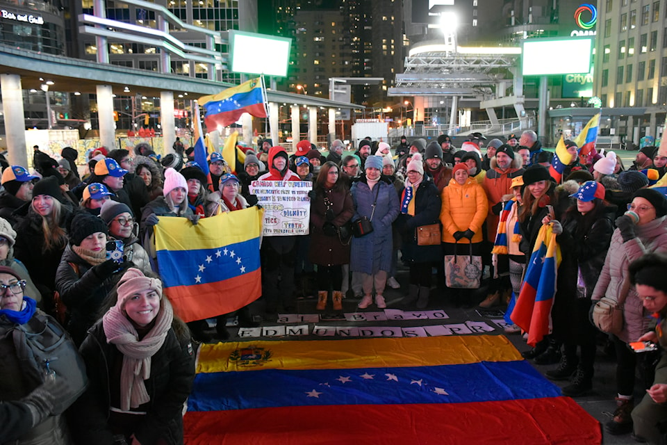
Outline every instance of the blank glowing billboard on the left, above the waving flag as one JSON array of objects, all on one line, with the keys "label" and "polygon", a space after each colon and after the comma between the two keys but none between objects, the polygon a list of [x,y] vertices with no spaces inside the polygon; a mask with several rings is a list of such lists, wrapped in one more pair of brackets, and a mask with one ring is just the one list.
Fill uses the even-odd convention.
[{"label": "blank glowing billboard on the left, above the waving flag", "polygon": [[287,76],[292,39],[244,31],[229,31],[231,71]]}]

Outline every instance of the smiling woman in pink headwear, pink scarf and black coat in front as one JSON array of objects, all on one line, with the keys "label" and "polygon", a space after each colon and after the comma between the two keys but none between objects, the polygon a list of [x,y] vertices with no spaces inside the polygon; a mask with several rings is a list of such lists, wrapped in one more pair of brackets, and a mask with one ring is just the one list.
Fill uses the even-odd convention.
[{"label": "smiling woman in pink headwear, pink scarf and black coat in front", "polygon": [[72,407],[77,443],[183,444],[195,355],[159,278],[129,268],[80,351],[88,389]]}]

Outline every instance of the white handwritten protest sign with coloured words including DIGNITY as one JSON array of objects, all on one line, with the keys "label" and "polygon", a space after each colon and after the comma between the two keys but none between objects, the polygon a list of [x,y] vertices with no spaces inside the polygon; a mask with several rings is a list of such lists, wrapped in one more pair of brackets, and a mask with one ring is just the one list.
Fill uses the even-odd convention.
[{"label": "white handwritten protest sign with coloured words including DIGNITY", "polygon": [[307,235],[312,189],[311,181],[252,181],[250,193],[264,207],[264,235]]}]

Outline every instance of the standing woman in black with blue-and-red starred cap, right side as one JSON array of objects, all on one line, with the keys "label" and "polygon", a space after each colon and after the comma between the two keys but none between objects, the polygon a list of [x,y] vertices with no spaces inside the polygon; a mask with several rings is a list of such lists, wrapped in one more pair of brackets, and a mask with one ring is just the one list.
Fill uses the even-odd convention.
[{"label": "standing woman in black with blue-and-red starred cap, right side", "polygon": [[584,182],[570,197],[577,202],[567,209],[562,223],[548,215],[542,222],[551,223],[562,254],[551,314],[563,355],[557,369],[546,375],[552,380],[571,378],[563,395],[575,397],[593,387],[596,330],[588,321],[588,309],[614,232],[616,206],[604,200],[604,186],[595,181]]}]

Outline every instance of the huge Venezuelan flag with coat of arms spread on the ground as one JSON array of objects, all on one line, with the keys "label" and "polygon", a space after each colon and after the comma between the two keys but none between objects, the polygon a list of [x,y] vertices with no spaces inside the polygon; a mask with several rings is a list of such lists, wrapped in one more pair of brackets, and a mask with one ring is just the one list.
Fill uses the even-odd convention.
[{"label": "huge Venezuelan flag with coat of arms spread on the ground", "polygon": [[185,443],[600,444],[503,336],[201,345]]}]

